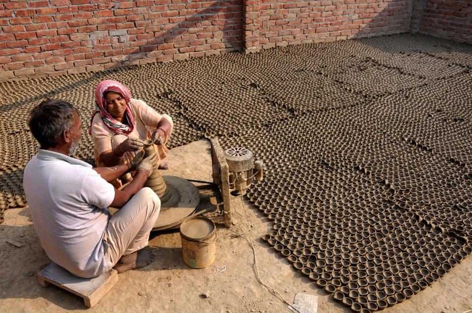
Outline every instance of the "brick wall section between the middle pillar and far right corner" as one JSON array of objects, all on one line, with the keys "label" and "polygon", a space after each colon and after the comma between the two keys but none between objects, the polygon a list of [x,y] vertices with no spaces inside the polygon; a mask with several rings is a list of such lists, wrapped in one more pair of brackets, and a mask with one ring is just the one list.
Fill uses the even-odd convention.
[{"label": "brick wall section between the middle pillar and far right corner", "polygon": [[409,30],[410,0],[261,0],[259,44],[343,40]]}]

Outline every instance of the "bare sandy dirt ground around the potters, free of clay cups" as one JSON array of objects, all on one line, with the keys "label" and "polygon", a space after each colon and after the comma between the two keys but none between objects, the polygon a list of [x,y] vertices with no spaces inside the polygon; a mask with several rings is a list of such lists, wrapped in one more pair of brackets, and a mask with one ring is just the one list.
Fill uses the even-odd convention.
[{"label": "bare sandy dirt ground around the potters, free of clay cups", "polygon": [[[166,175],[211,180],[210,145],[200,140],[171,150]],[[318,296],[318,312],[351,312],[334,302],[324,290],[295,271],[292,265],[260,239],[268,220],[248,201],[233,200],[235,226],[219,228],[214,266],[187,267],[181,257],[178,232],[153,235],[149,247],[158,259],[139,270],[119,274],[118,284],[93,308],[81,298],[58,287],[41,287],[37,272],[50,261],[42,250],[28,208],[6,211],[0,226],[1,312],[291,312],[277,295],[262,286],[256,276],[253,250],[245,237],[231,235],[247,230],[252,238],[262,280],[275,287],[290,303],[295,293]],[[23,243],[17,248],[5,241]],[[223,270],[226,268],[226,270]],[[385,313],[464,312],[472,309],[472,259],[455,266],[431,287]],[[208,297],[203,294],[207,293]]]}]

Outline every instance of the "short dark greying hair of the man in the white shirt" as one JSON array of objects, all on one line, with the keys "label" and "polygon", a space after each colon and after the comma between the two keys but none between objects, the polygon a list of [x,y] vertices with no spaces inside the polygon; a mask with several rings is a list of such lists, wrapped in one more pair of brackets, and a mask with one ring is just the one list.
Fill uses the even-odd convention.
[{"label": "short dark greying hair of the man in the white shirt", "polygon": [[31,110],[29,129],[42,148],[58,146],[60,134],[74,125],[77,109],[67,101],[48,99]]}]

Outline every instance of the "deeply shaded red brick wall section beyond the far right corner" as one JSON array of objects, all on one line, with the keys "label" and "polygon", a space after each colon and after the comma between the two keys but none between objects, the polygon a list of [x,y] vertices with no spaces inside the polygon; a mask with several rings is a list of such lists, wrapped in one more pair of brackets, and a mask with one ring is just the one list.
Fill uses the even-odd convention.
[{"label": "deeply shaded red brick wall section beyond the far right corner", "polygon": [[472,0],[424,0],[419,31],[472,43]]}]

